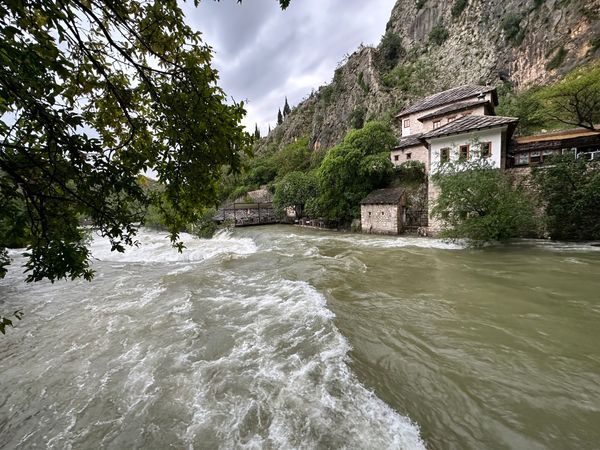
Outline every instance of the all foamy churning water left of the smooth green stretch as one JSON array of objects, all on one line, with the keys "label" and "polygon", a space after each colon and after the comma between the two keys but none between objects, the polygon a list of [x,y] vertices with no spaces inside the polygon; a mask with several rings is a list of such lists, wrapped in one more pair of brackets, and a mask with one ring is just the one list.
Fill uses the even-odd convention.
[{"label": "all foamy churning water left of the smooth green stretch", "polygon": [[311,284],[250,237],[182,238],[95,239],[92,283],[0,281],[26,314],[1,341],[1,448],[424,448]]}]

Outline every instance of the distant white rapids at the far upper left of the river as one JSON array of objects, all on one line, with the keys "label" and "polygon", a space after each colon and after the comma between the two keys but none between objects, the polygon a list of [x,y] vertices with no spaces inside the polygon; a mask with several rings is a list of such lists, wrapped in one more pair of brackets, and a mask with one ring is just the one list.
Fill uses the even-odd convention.
[{"label": "distant white rapids at the far upper left of the river", "polygon": [[124,253],[119,253],[110,250],[108,240],[96,236],[91,244],[92,255],[100,261],[120,263],[191,263],[224,254],[245,256],[256,252],[252,239],[236,238],[231,233],[219,233],[212,239],[181,233],[180,239],[185,245],[182,252],[173,248],[166,233],[141,230],[136,239],[139,246],[126,247]]}]

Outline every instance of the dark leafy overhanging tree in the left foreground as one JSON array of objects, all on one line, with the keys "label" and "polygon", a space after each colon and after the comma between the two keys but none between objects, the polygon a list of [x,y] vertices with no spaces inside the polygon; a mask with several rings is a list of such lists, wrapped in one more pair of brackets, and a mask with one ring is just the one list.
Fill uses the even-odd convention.
[{"label": "dark leafy overhanging tree in the left foreground", "polygon": [[153,205],[182,248],[251,142],[211,57],[174,0],[0,5],[0,222],[25,206],[28,281],[91,279],[82,216],[123,251]]}]

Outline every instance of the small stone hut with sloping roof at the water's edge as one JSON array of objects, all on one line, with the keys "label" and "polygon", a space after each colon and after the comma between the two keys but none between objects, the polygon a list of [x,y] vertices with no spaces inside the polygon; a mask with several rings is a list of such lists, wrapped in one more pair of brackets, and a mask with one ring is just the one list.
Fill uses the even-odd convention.
[{"label": "small stone hut with sloping roof at the water's edge", "polygon": [[404,190],[378,189],[360,202],[363,233],[400,234],[403,226]]}]

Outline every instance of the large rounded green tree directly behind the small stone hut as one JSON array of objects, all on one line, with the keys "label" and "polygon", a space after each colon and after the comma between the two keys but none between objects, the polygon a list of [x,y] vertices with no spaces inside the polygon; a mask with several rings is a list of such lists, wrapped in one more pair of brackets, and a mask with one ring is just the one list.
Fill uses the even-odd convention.
[{"label": "large rounded green tree directly behind the small stone hut", "polygon": [[395,144],[394,133],[380,122],[369,122],[360,130],[350,131],[321,163],[320,196],[313,210],[342,223],[358,217],[360,201],[391,178],[389,151]]}]

